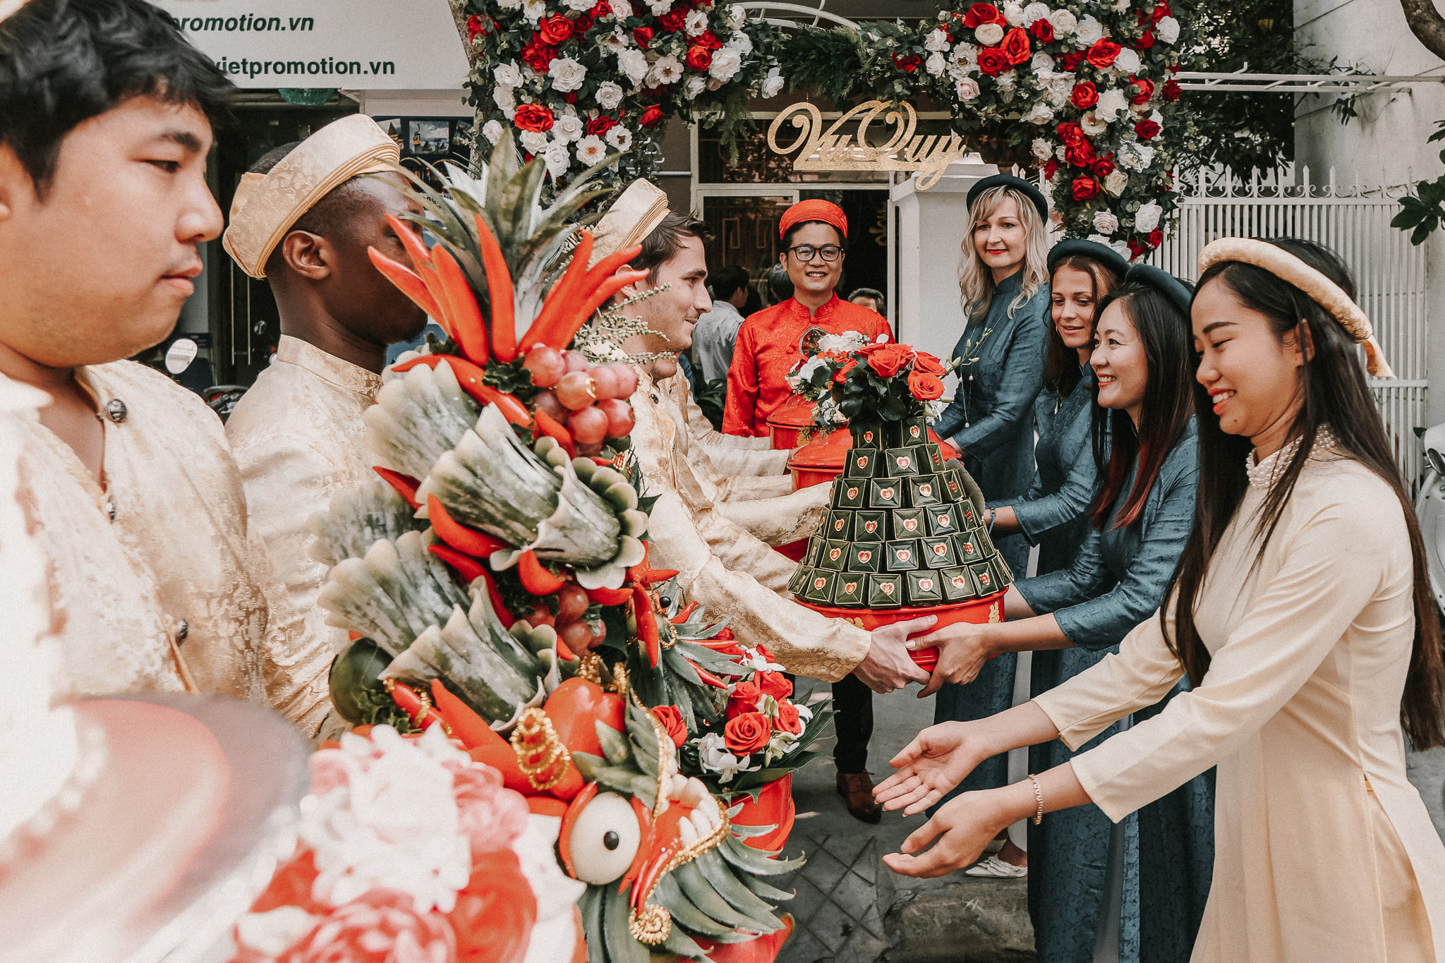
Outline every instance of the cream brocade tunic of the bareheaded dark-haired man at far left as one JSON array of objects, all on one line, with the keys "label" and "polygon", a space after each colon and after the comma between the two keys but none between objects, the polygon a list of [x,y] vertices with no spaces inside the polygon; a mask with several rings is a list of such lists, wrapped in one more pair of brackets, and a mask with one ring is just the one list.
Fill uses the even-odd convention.
[{"label": "cream brocade tunic of the bareheaded dark-haired man at far left", "polygon": [[247,527],[240,474],[201,400],[130,361],[75,380],[104,426],[104,489],[25,419],[22,498],[51,566],[71,697],[181,692],[269,702],[298,719],[299,622]]}]

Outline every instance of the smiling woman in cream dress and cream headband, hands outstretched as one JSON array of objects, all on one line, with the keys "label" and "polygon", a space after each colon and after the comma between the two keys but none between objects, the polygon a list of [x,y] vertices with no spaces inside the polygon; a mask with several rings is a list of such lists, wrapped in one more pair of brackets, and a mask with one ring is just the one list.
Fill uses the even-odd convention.
[{"label": "smiling woman in cream dress and cream headband, hands outstretched", "polygon": [[1439,624],[1357,345],[1371,374],[1389,365],[1332,251],[1222,238],[1199,263],[1195,403],[1211,414],[1159,615],[1033,702],[925,729],[879,797],[920,811],[978,759],[1079,746],[1179,679],[1194,689],[1065,765],[958,797],[884,860],[942,875],[1016,819],[1088,803],[1123,819],[1218,764],[1195,960],[1445,959],[1445,845],[1405,775],[1406,738],[1445,745]]}]

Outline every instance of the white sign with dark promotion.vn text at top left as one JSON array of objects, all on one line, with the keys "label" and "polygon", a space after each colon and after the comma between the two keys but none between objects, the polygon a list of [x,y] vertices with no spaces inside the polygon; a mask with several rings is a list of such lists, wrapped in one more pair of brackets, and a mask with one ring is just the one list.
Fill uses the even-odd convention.
[{"label": "white sign with dark promotion.vn text at top left", "polygon": [[457,90],[447,0],[152,0],[237,87]]}]

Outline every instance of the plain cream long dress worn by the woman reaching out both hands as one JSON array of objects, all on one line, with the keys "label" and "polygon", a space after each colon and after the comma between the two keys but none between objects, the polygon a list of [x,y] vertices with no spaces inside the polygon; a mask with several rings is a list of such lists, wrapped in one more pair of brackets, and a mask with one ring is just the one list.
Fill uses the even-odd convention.
[{"label": "plain cream long dress worn by the woman reaching out both hands", "polygon": [[[1251,569],[1264,492],[1250,485],[1199,593],[1202,684],[1074,771],[1117,822],[1218,765],[1194,960],[1445,963],[1445,845],[1406,781],[1399,722],[1415,632],[1399,500],[1316,453]],[[1182,674],[1152,618],[1035,702],[1078,748]]]}]

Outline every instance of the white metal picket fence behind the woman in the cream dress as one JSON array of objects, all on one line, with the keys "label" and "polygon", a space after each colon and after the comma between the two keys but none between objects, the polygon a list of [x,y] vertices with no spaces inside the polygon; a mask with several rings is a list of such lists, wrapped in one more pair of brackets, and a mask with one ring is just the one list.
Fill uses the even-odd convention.
[{"label": "white metal picket fence behind the woman in the cream dress", "polygon": [[1196,279],[1199,251],[1218,237],[1299,237],[1344,257],[1354,273],[1360,308],[1374,323],[1397,375],[1370,378],[1370,387],[1393,437],[1396,462],[1405,479],[1418,484],[1420,446],[1415,429],[1425,424],[1429,385],[1425,245],[1412,245],[1406,231],[1390,227],[1400,209],[1394,193],[1338,186],[1334,172],[1327,183],[1316,185],[1308,167],[1250,182],[1205,173],[1179,186],[1173,237],[1150,257],[1172,274]]}]

